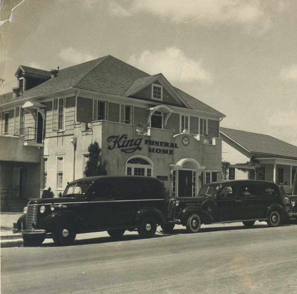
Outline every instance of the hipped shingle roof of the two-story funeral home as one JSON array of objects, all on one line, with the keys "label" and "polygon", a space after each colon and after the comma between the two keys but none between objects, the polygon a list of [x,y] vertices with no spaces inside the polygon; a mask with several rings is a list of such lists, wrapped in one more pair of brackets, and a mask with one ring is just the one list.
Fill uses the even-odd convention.
[{"label": "hipped shingle roof of the two-story funeral home", "polygon": [[[30,67],[25,68],[26,70],[32,69]],[[156,75],[149,75],[124,61],[108,55],[61,69],[56,78],[49,79],[44,83],[25,91],[21,96],[10,99],[10,102],[72,87],[125,96],[125,94],[129,93],[140,84],[154,78],[154,76]],[[206,105],[191,95],[178,88],[173,88],[180,94],[191,109],[225,117],[223,113]]]}]

